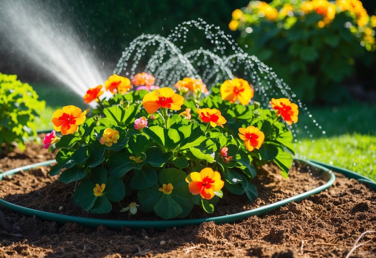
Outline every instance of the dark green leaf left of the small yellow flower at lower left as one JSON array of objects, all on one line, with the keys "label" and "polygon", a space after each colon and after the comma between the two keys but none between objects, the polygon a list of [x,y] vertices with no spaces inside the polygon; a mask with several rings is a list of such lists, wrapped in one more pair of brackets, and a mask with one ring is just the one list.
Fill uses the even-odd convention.
[{"label": "dark green leaf left of the small yellow flower at lower left", "polygon": [[85,211],[90,210],[97,199],[97,196],[94,195],[94,187],[95,184],[90,179],[84,179],[74,190],[74,203]]}]

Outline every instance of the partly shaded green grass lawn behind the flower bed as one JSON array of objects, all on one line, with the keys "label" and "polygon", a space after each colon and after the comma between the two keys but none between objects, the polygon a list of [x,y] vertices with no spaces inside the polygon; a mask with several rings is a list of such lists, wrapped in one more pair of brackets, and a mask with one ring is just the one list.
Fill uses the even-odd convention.
[{"label": "partly shaded green grass lawn behind the flower bed", "polygon": [[[32,85],[40,99],[46,101],[46,109],[37,122],[38,131],[52,128],[52,114],[62,106],[88,108],[80,96],[66,88]],[[371,119],[376,117],[376,106],[352,103],[307,110],[309,114],[300,111],[294,128],[297,156],[347,168],[376,181],[376,120]]]}]

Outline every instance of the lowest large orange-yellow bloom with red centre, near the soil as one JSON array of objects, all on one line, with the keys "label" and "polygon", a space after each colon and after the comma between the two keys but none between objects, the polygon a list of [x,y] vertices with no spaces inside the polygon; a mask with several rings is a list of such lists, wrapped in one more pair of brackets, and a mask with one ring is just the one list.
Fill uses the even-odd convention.
[{"label": "lowest large orange-yellow bloom with red centre, near the soil", "polygon": [[192,194],[200,194],[203,199],[212,199],[215,191],[222,189],[224,182],[221,174],[210,167],[206,167],[199,172],[192,172],[185,181],[189,183],[189,190]]}]

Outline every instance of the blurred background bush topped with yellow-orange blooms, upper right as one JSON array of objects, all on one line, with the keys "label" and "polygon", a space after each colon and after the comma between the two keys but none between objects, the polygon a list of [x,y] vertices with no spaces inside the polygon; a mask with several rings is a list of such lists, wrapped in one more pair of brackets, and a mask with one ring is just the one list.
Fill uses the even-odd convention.
[{"label": "blurred background bush topped with yellow-orange blooms, upper right", "polygon": [[[339,102],[344,77],[355,60],[371,62],[376,50],[376,16],[359,0],[250,1],[232,12],[231,30],[239,43],[256,55],[305,103]],[[338,94],[338,93],[342,93]]]}]

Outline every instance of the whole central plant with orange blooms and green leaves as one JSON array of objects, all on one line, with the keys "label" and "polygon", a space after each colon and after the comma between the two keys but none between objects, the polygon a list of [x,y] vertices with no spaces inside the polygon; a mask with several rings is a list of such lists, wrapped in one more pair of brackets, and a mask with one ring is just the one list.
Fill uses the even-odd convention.
[{"label": "whole central plant with orange blooms and green leaves", "polygon": [[[113,76],[109,80],[130,81],[120,77],[118,84]],[[202,80],[177,84],[184,85],[176,88],[185,97],[169,87],[127,86],[126,93],[108,87],[114,96],[92,97],[99,103],[92,114],[74,106],[55,112],[54,128],[63,136],[55,144],[61,149],[50,175],[65,168],[59,180],[76,182],[77,205],[106,213],[119,202],[122,212],[136,214],[139,207],[163,219],[183,218],[194,205],[212,213],[224,193],[255,200],[252,179],[267,162],[287,177],[294,154],[287,124],[297,121],[296,104],[272,99],[270,109],[261,109],[252,101],[252,85],[238,78],[218,83],[203,98]]]}]

